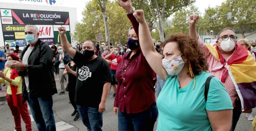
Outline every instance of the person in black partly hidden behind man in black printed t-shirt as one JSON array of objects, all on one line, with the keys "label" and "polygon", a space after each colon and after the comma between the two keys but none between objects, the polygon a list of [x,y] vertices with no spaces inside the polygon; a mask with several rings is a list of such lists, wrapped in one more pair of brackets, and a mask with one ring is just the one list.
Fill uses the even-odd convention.
[{"label": "person in black partly hidden behind man in black printed t-shirt", "polygon": [[71,114],[71,116],[75,116],[74,121],[78,121],[80,119],[76,106],[76,101],[74,100],[76,93],[76,68],[76,64],[73,61],[71,61],[70,63],[65,65],[65,71],[63,72],[64,76],[68,74],[68,83],[66,88],[68,90],[69,101],[74,107],[74,111]]}]

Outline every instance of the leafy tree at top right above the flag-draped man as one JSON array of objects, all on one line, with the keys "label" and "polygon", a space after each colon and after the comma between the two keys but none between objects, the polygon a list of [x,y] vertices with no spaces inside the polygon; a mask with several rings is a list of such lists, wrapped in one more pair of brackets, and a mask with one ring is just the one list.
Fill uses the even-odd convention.
[{"label": "leafy tree at top right above the flag-draped man", "polygon": [[234,27],[240,30],[242,37],[245,38],[249,35],[244,35],[246,30],[256,29],[256,1],[255,0],[227,0],[220,6],[220,15],[225,15],[232,12],[232,19],[221,18],[221,22],[225,27]]}]

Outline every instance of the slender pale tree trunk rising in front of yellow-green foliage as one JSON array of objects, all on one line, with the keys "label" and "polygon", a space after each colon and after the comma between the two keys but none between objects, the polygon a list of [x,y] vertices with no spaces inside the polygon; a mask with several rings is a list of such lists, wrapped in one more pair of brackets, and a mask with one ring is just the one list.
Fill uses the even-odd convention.
[{"label": "slender pale tree trunk rising in front of yellow-green foliage", "polygon": [[104,26],[105,26],[106,42],[109,44],[109,24],[107,22],[107,9],[106,9],[107,0],[97,0],[97,3],[100,7],[100,11],[102,12],[102,17],[103,17]]}]

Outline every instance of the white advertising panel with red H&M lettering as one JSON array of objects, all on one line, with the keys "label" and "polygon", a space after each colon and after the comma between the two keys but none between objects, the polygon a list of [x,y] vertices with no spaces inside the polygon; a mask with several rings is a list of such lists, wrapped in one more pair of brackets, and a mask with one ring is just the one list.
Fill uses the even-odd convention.
[{"label": "white advertising panel with red H&M lettering", "polygon": [[54,38],[52,25],[35,25],[40,33],[39,38]]}]

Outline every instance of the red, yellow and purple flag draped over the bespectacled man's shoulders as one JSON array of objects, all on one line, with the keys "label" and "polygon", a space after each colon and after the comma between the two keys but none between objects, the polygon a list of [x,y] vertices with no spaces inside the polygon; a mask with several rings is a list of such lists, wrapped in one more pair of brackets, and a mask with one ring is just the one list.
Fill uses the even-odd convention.
[{"label": "red, yellow and purple flag draped over the bespectacled man's shoulders", "polygon": [[217,46],[205,44],[209,52],[221,65],[213,70],[223,69],[221,82],[225,83],[227,75],[232,79],[241,100],[242,111],[256,107],[256,62],[242,45],[235,45],[234,54],[226,61]]}]

